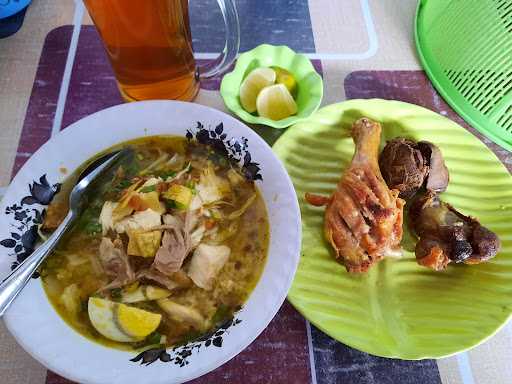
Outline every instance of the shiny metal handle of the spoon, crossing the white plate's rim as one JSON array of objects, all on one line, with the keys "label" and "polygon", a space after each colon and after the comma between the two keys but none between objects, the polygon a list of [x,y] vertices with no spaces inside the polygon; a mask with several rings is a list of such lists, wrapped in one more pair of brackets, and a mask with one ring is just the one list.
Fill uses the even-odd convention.
[{"label": "shiny metal handle of the spoon, crossing the white plate's rim", "polygon": [[74,220],[74,214],[69,211],[64,221],[51,234],[39,248],[37,248],[18,268],[16,268],[9,276],[0,283],[0,317],[2,317],[14,301],[18,293],[25,287],[34,272],[41,265],[43,260],[55,248],[60,238],[70,227]]}]

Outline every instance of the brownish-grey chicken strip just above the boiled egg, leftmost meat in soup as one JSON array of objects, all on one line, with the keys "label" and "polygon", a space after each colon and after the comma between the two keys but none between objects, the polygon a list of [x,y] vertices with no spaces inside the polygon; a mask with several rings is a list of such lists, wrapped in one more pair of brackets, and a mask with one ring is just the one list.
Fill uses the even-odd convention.
[{"label": "brownish-grey chicken strip just above the boiled egg, leftmost meat in soup", "polygon": [[113,279],[102,290],[119,288],[135,280],[135,273],[121,240],[112,242],[108,237],[102,238],[99,256],[105,274]]}]

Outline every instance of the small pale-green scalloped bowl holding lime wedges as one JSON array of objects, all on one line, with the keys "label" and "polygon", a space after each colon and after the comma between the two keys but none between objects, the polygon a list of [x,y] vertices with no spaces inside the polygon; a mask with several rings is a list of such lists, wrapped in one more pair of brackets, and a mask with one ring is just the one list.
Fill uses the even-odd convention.
[{"label": "small pale-green scalloped bowl holding lime wedges", "polygon": [[[240,104],[240,85],[253,69],[277,66],[289,71],[297,81],[297,113],[282,120],[271,120],[253,115]],[[236,61],[233,72],[222,79],[220,94],[226,107],[243,121],[252,124],[264,124],[274,128],[286,128],[307,119],[315,112],[323,97],[322,77],[315,71],[311,61],[304,55],[297,54],[287,46],[262,44],[241,54]]]}]

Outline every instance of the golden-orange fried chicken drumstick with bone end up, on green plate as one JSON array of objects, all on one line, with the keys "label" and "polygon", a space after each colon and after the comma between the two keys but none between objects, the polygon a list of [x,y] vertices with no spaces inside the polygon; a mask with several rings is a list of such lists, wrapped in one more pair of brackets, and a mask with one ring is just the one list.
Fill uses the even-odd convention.
[{"label": "golden-orange fried chicken drumstick with bone end up, on green plate", "polygon": [[327,205],[324,233],[336,259],[349,272],[366,272],[385,255],[400,252],[404,201],[389,190],[378,164],[381,126],[367,118],[352,126],[356,151],[330,198],[306,194]]}]

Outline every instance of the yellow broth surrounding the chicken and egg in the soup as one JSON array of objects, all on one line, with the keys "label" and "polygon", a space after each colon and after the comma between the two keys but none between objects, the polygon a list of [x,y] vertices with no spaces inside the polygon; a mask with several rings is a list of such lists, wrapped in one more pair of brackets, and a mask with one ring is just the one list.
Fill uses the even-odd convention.
[{"label": "yellow broth surrounding the chicken and egg in the soup", "polygon": [[[227,172],[234,167],[234,164],[220,157],[211,148],[197,143],[190,144],[181,137],[141,138],[123,143],[110,150],[126,145],[134,148],[136,152],[134,160],[130,163],[130,166],[133,167],[130,172],[135,176],[149,164],[154,163],[163,152],[170,155],[180,153],[187,162],[191,161],[192,164],[195,164],[195,167],[191,167],[191,178],[196,177],[195,173],[201,172],[199,168],[204,162],[214,164],[215,173],[226,179]],[[196,161],[198,158],[200,160]],[[127,176],[128,178],[129,176]],[[76,180],[76,173],[68,178],[65,183],[67,185],[63,186],[63,192],[56,197],[56,202],[67,199],[74,180]],[[56,250],[47,258],[40,268],[40,272],[50,302],[67,324],[90,340],[118,349],[132,350],[157,343],[155,335],[152,334],[148,340],[136,343],[109,340],[92,326],[87,311],[88,298],[101,296],[101,288],[109,282],[102,270],[98,256],[99,244],[103,236],[98,216],[104,201],[118,198],[122,193],[121,188],[122,186],[120,187],[118,184],[114,185],[112,180],[98,187],[95,198],[81,215],[77,225],[66,234]],[[166,312],[153,301],[128,304],[162,315],[162,321],[156,332],[157,335],[166,337],[166,346],[180,344],[213,331],[233,316],[256,286],[266,261],[269,243],[268,215],[263,198],[253,181],[243,179],[240,184],[232,187],[229,204],[222,204],[219,209],[221,213],[222,210],[233,212],[240,209],[252,194],[256,195],[253,203],[240,217],[230,221],[221,218],[215,223],[218,226],[217,233],[221,234],[220,238],[227,236],[220,244],[227,245],[231,249],[231,253],[228,261],[216,276],[213,289],[205,290],[192,284],[188,288],[172,291],[170,296],[172,301],[199,311],[201,316],[208,321],[209,329],[199,332],[188,324],[177,322],[167,316]],[[126,245],[126,239],[123,242]],[[207,243],[208,239],[205,242]],[[132,265],[148,263],[148,260],[138,256],[129,256],[129,258]],[[190,256],[187,260],[189,259]],[[185,266],[187,260],[184,263]],[[73,284],[77,288],[74,290],[74,297],[79,297],[79,303],[74,306],[68,301],[68,305],[65,305],[66,300],[63,298],[63,293],[66,287]],[[151,284],[158,285],[154,282]],[[116,300],[113,297],[109,297],[109,299]]]}]

